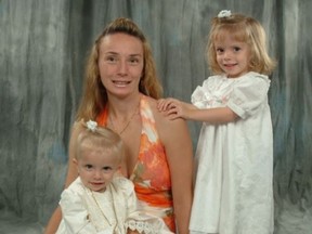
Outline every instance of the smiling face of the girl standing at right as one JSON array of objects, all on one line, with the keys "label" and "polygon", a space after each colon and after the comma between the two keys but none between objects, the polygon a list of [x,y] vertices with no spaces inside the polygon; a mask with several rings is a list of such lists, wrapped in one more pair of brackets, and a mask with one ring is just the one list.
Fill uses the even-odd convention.
[{"label": "smiling face of the girl standing at right", "polygon": [[227,78],[237,78],[249,72],[250,49],[247,43],[223,32],[222,40],[216,40],[214,50],[217,62]]}]

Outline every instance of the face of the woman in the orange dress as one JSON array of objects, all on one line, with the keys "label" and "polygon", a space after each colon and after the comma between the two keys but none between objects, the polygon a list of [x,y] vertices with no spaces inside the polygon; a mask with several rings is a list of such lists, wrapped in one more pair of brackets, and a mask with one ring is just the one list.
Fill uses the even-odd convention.
[{"label": "face of the woman in the orange dress", "polygon": [[99,69],[108,95],[126,96],[139,92],[143,67],[143,44],[140,39],[122,32],[102,39]]}]

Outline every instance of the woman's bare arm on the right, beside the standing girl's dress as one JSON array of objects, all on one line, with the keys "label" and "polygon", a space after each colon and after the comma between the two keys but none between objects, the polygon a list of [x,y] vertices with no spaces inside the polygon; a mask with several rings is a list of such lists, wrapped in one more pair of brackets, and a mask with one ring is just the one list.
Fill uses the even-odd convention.
[{"label": "woman's bare arm on the right, beside the standing girl's dress", "polygon": [[166,147],[171,172],[174,214],[179,234],[188,234],[193,200],[193,146],[183,119],[159,118],[159,136]]}]

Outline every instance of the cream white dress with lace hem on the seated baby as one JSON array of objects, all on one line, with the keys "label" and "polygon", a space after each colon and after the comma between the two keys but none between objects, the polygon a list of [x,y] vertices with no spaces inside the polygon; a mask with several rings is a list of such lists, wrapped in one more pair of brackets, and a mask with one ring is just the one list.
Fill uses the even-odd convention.
[{"label": "cream white dress with lace hem on the seated baby", "polygon": [[105,192],[92,192],[78,177],[61,195],[63,219],[56,234],[171,233],[160,218],[140,211],[133,183],[115,177]]}]

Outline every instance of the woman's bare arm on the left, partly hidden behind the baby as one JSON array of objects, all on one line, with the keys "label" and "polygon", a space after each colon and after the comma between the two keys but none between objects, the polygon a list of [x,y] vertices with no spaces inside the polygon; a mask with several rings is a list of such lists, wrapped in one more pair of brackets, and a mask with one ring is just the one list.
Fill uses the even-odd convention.
[{"label": "woman's bare arm on the left, partly hidden behind the baby", "polygon": [[[76,166],[73,162],[73,158],[75,157],[76,141],[80,132],[80,129],[81,129],[80,123],[75,122],[72,129],[72,135],[70,135],[69,147],[68,147],[69,158],[68,158],[67,177],[65,180],[65,187],[67,187],[78,177],[78,172],[77,172]],[[48,222],[48,225],[46,226],[44,234],[54,234],[60,225],[61,220],[62,220],[62,211],[61,211],[61,207],[57,206],[57,208],[51,216]]]}]

